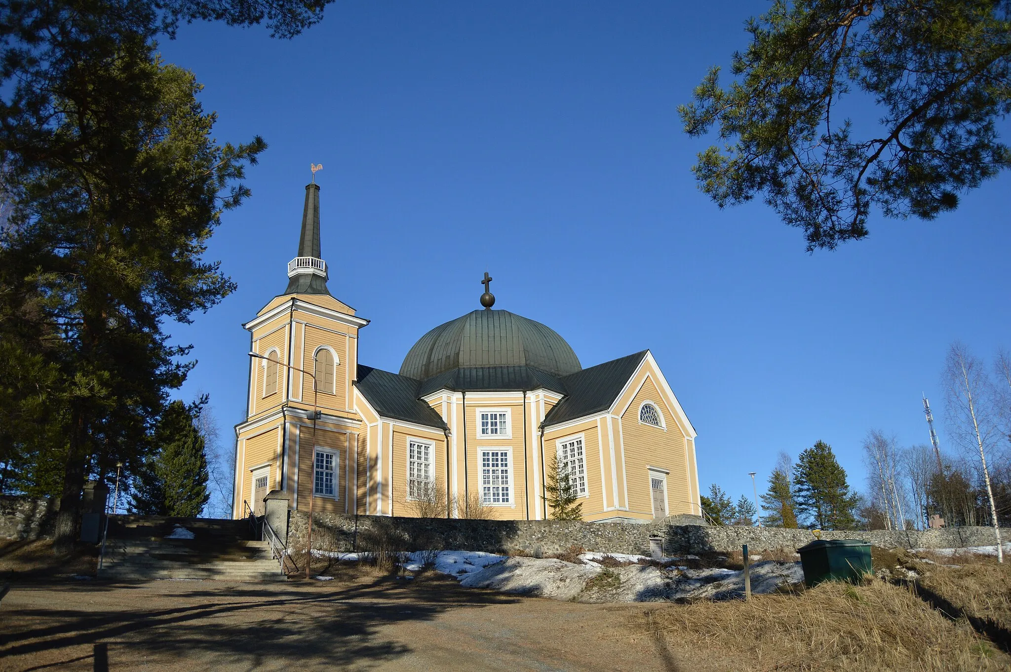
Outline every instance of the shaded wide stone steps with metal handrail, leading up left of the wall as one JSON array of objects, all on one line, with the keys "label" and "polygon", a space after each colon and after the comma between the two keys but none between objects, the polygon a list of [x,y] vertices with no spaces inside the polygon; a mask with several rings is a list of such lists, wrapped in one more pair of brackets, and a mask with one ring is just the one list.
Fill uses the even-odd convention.
[{"label": "shaded wide stone steps with metal handrail, leading up left of the wall", "polygon": [[249,520],[112,515],[98,576],[127,581],[285,580],[268,543],[252,537]]}]

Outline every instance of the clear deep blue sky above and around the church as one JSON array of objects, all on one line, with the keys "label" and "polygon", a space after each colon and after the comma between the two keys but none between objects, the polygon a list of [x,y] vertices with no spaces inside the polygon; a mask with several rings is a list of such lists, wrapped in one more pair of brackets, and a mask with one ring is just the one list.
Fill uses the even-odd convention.
[{"label": "clear deep blue sky above and around the church", "polygon": [[232,441],[242,323],[284,290],[316,162],[330,289],[372,320],[364,364],[397,371],[478,307],[488,270],[495,307],[552,326],[583,366],[653,351],[699,431],[703,488],[750,495],[747,472],[761,490],[779,451],[819,439],[862,488],[868,429],[926,443],[921,392],[943,416],[951,341],[1011,347],[1011,179],[814,255],[761,203],[719,210],[676,106],[764,7],[338,3],[291,41],[184,26],[162,52],[206,86],[216,137],[270,147],[208,253],[239,290],[171,328],[199,360],[180,394],[208,392]]}]

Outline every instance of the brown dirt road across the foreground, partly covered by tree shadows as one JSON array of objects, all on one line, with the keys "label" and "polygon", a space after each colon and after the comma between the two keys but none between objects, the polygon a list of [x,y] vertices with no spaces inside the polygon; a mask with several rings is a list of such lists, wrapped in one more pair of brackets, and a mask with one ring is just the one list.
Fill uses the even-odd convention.
[{"label": "brown dirt road across the foreground, partly covered by tree shadows", "polygon": [[0,670],[675,669],[624,632],[636,610],[441,577],[20,584],[0,602]]}]

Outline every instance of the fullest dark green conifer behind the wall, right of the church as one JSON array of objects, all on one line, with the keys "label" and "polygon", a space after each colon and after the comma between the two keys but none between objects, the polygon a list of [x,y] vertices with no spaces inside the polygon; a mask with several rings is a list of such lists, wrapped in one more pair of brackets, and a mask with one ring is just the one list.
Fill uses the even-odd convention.
[{"label": "fullest dark green conifer behind the wall, right of the church", "polygon": [[807,449],[794,467],[794,500],[812,526],[820,530],[851,530],[855,523],[856,496],[849,491],[846,472],[839,466],[832,447],[823,441]]}]

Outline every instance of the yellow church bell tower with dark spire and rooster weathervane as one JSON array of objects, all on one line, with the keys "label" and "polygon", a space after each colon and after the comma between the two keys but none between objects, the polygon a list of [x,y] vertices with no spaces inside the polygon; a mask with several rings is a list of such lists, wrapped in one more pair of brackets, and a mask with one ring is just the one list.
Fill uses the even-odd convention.
[{"label": "yellow church bell tower with dark spire and rooster weathervane", "polygon": [[243,325],[250,332],[249,402],[246,420],[236,425],[235,517],[261,514],[268,493],[290,508],[308,508],[310,487],[315,510],[354,510],[361,419],[352,386],[358,330],[368,320],[327,286],[314,176],[305,185],[298,253],[287,274],[284,293]]}]

